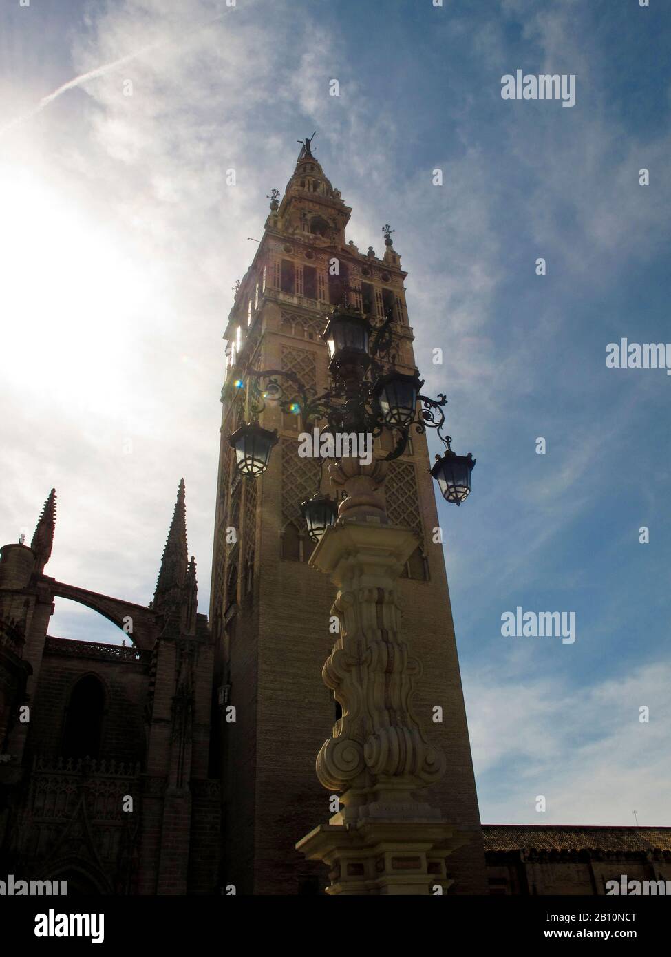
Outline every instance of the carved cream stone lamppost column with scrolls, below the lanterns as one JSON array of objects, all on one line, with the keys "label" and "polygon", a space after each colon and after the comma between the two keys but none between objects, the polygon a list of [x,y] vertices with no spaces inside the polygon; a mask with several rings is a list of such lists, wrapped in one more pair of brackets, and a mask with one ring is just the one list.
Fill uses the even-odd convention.
[{"label": "carved cream stone lamppost column with scrolls, below the lanterns", "polygon": [[343,716],[317,757],[317,776],[342,792],[341,810],[298,842],[329,866],[328,894],[444,892],[445,858],[467,836],[420,796],[439,780],[445,759],[413,712],[421,665],[401,634],[395,581],[417,545],[414,533],[389,523],[376,490],[386,463],[344,458],[329,467],[347,491],[310,565],[338,586],[332,613],[340,633],[322,672]]}]

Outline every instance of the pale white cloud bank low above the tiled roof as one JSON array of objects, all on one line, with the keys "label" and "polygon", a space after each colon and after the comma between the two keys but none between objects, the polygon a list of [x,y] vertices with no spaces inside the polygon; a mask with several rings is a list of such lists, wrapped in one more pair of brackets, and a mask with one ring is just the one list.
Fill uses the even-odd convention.
[{"label": "pale white cloud bank low above the tiled roof", "polygon": [[[641,825],[671,825],[670,679],[662,659],[579,689],[520,671],[469,680],[482,821],[632,825],[637,811]],[[649,723],[638,721],[643,705]],[[545,813],[535,811],[538,794]]]}]

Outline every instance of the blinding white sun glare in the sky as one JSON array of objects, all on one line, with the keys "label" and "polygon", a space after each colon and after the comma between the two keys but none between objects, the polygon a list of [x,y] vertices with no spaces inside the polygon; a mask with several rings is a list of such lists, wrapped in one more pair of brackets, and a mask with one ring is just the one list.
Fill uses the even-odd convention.
[{"label": "blinding white sun glare in the sky", "polygon": [[[51,185],[0,168],[0,316],[5,384],[100,410],[132,366],[141,269],[123,241]],[[130,360],[130,361],[129,361]]]}]

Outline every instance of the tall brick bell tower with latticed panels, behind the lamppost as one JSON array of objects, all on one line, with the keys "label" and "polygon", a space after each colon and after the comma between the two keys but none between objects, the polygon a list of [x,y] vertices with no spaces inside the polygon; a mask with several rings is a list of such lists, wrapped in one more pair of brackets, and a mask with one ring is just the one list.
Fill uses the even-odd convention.
[{"label": "tall brick bell tower with latticed panels, behind the lamppost", "polygon": [[[337,718],[321,678],[333,635],[328,623],[335,588],[307,566],[313,545],[299,504],[320,482],[318,460],[298,456],[298,414],[267,402],[260,417],[280,441],[259,479],[235,472],[228,436],[245,418],[254,380],[243,367],[291,370],[306,387],[327,387],[325,317],[347,300],[374,321],[393,311],[397,366],[414,369],[400,256],[388,234],[382,258],[362,254],[345,229],[351,210],[333,189],[309,141],[284,195],[274,191],[257,254],[239,283],[224,333],[228,341],[212,562],[211,623],[215,649],[211,775],[221,774],[221,882],[237,893],[316,893],[321,865],[306,862],[295,843],[328,817],[328,793],[315,757]],[[391,450],[382,434],[378,453]],[[324,469],[323,491],[329,491]],[[424,435],[391,461],[386,482],[391,522],[421,543],[399,583],[403,627],[424,674],[416,711],[447,759],[429,800],[458,828],[473,832],[450,857],[454,891],[485,893],[480,818],[459,676],[450,598]],[[332,490],[331,490],[332,491]],[[443,723],[432,723],[441,705]],[[233,710],[235,708],[235,711]],[[235,721],[233,721],[235,717]]]}]

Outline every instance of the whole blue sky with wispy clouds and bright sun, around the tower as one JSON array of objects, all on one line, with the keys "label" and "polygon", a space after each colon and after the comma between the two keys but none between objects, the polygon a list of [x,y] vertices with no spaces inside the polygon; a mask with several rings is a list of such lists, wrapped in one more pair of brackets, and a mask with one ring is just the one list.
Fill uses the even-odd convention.
[{"label": "whole blue sky with wispy clouds and bright sun, around the tower", "polygon": [[[3,0],[0,538],[56,486],[47,572],[146,604],[184,477],[207,610],[232,287],[317,129],[477,458],[438,512],[482,821],[671,825],[671,377],[605,361],[671,341],[670,41],[662,0]],[[518,69],[575,104],[503,100]]]}]

